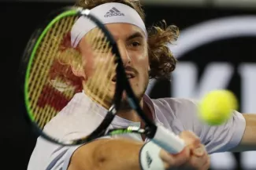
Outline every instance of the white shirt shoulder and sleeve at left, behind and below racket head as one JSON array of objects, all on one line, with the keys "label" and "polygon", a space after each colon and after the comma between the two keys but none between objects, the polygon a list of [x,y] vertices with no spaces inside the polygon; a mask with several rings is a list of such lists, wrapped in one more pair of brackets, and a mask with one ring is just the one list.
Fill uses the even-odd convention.
[{"label": "white shirt shoulder and sleeve at left, behind and below racket head", "polygon": [[[102,121],[99,114],[87,113],[87,98],[76,94],[68,105],[43,128],[48,136],[57,139],[77,139],[87,136]],[[91,105],[90,105],[91,106]],[[67,169],[72,153],[79,146],[63,146],[39,137],[28,164],[28,170]]]}]

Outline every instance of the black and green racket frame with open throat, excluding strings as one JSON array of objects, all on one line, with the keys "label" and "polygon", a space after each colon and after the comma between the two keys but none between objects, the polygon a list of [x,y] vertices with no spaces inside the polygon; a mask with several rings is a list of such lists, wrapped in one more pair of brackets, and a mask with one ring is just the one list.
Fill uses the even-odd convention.
[{"label": "black and green racket frame with open throat, excluding strings", "polygon": [[[117,81],[116,81],[116,92],[113,97],[113,105],[109,108],[106,118],[102,121],[102,123],[98,126],[98,128],[95,129],[94,132],[92,132],[89,136],[72,140],[70,142],[65,142],[60,139],[55,139],[53,137],[50,137],[46,135],[41,128],[39,128],[39,125],[35,123],[35,119],[33,117],[33,114],[29,108],[29,99],[28,99],[28,77],[29,77],[29,71],[32,66],[32,60],[35,56],[36,49],[39,46],[39,43],[43,39],[46,32],[50,29],[50,26],[52,26],[56,21],[60,20],[61,18],[65,16],[86,16],[87,18],[93,20],[95,24],[102,30],[102,32],[106,35],[107,41],[109,41],[109,44],[112,46],[112,52],[116,56],[116,74],[117,74]],[[36,40],[36,41],[35,41]],[[28,45],[24,51],[24,55],[22,57],[22,63],[20,67],[20,73],[22,78],[22,93],[24,96],[24,114],[25,118],[28,121],[29,125],[32,125],[32,128],[35,129],[35,132],[38,133],[40,136],[42,136],[44,139],[49,140],[53,143],[59,143],[66,146],[72,146],[82,143],[88,143],[91,142],[91,140],[102,137],[102,136],[113,136],[113,135],[121,135],[124,133],[139,133],[139,134],[145,134],[148,138],[152,139],[154,138],[154,135],[157,131],[157,126],[154,125],[154,122],[150,120],[150,118],[147,118],[147,115],[143,113],[142,108],[139,106],[139,99],[135,96],[134,92],[132,91],[132,87],[130,85],[130,82],[128,81],[128,78],[126,77],[126,73],[124,71],[124,63],[121,59],[121,54],[118,50],[117,43],[115,42],[112,34],[109,33],[107,28],[104,26],[104,24],[101,23],[100,20],[97,19],[97,17],[91,15],[89,9],[82,9],[82,8],[76,8],[76,7],[65,7],[62,9],[59,9],[58,11],[55,11],[54,13],[50,14],[50,17],[48,20],[44,22],[43,25],[39,26],[34,33],[32,34],[32,37],[28,41]],[[26,71],[26,72],[24,72]],[[111,122],[113,121],[113,118],[117,114],[117,110],[119,109],[121,105],[121,97],[123,92],[127,93],[128,96],[128,103],[132,107],[133,110],[139,114],[140,118],[143,119],[145,122],[145,128],[138,128],[135,126],[129,126],[127,128],[117,128],[112,130],[107,130]]]}]

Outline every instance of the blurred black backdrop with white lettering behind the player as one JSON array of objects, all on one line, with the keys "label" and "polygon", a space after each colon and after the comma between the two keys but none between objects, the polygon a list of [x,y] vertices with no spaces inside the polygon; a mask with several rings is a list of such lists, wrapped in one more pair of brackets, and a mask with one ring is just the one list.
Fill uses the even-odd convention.
[{"label": "blurred black backdrop with white lettering behind the player", "polygon": [[[26,169],[37,137],[20,112],[20,56],[36,25],[51,10],[74,2],[0,0],[1,169]],[[256,113],[255,0],[144,0],[143,5],[147,26],[165,20],[180,27],[180,39],[169,46],[179,60],[176,71],[172,81],[150,81],[152,98],[200,99],[212,89],[230,89],[239,97],[240,112]],[[256,169],[256,152],[213,154],[211,168]]]}]

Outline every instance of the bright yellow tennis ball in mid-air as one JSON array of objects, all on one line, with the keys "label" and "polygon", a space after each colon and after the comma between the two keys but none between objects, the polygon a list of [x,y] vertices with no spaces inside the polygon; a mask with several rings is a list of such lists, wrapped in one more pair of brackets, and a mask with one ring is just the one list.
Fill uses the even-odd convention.
[{"label": "bright yellow tennis ball in mid-air", "polygon": [[208,125],[221,125],[238,109],[236,96],[228,90],[214,90],[206,94],[198,105],[198,116]]}]

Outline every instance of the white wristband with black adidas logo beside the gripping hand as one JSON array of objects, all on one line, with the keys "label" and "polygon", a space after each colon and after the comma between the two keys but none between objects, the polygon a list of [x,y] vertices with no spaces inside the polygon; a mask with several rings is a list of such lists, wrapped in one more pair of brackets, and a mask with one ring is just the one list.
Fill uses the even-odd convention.
[{"label": "white wristband with black adidas logo beside the gripping hand", "polygon": [[139,153],[139,162],[142,170],[164,170],[165,166],[159,157],[161,147],[153,142],[144,144]]}]

